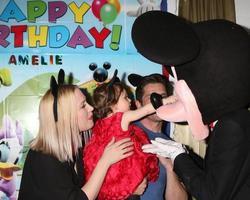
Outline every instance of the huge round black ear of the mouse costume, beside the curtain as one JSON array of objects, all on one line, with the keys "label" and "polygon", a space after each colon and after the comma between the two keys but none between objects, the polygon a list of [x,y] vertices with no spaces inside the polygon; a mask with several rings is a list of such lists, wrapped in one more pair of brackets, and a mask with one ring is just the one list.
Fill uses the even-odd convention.
[{"label": "huge round black ear of the mouse costume, beside the curtain", "polygon": [[177,66],[191,62],[201,48],[193,23],[159,10],[137,17],[131,38],[138,53],[158,64]]}]

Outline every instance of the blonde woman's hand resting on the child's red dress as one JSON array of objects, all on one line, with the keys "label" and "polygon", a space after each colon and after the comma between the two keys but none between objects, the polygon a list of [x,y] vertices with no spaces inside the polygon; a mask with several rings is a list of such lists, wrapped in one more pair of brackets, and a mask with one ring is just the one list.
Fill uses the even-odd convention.
[{"label": "blonde woman's hand resting on the child's red dress", "polygon": [[133,154],[133,142],[131,142],[130,138],[125,138],[115,142],[115,138],[107,144],[102,154],[101,159],[108,166],[124,159]]}]

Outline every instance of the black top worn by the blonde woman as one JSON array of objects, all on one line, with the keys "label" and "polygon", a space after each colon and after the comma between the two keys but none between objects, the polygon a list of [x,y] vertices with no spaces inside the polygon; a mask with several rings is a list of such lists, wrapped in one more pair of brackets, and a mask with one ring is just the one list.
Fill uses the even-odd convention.
[{"label": "black top worn by the blonde woman", "polygon": [[29,150],[18,200],[88,200],[74,164]]}]

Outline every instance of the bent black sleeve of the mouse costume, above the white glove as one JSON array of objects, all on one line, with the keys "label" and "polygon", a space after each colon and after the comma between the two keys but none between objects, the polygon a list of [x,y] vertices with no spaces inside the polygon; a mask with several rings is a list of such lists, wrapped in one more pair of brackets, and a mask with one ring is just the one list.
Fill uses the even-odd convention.
[{"label": "bent black sleeve of the mouse costume, above the white glove", "polygon": [[243,179],[249,175],[247,134],[233,120],[218,123],[211,134],[204,169],[188,154],[180,154],[174,161],[174,171],[199,200],[235,199],[233,195],[241,190]]}]

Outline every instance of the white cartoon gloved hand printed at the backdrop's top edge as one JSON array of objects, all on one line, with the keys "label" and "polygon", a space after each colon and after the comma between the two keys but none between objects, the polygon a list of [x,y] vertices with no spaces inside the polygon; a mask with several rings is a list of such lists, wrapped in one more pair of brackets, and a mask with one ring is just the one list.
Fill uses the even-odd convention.
[{"label": "white cartoon gloved hand printed at the backdrop's top edge", "polygon": [[127,15],[130,17],[138,17],[141,14],[151,11],[151,10],[160,10],[159,5],[156,4],[156,0],[137,0],[140,4],[137,10],[130,10],[127,12]]}]

